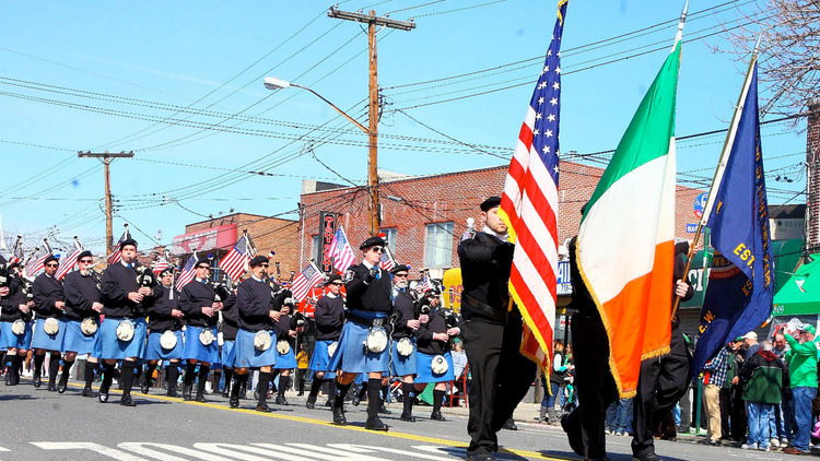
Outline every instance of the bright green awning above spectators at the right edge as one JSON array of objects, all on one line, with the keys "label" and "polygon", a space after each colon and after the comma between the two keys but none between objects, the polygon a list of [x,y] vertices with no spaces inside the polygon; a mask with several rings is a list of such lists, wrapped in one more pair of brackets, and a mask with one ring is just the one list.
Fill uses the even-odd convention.
[{"label": "bright green awning above spectators at the right edge", "polygon": [[773,316],[820,314],[820,253],[811,258],[775,293]]}]

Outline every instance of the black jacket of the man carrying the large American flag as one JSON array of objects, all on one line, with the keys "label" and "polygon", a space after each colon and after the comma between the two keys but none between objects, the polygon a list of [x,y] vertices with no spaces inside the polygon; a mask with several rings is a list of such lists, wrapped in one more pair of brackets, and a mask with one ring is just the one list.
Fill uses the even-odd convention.
[{"label": "black jacket of the man carrying the large American flag", "polygon": [[461,261],[461,315],[465,320],[500,321],[499,318],[503,317],[500,314],[507,310],[509,303],[507,283],[514,249],[514,245],[484,232],[470,230],[461,237],[458,258]]}]

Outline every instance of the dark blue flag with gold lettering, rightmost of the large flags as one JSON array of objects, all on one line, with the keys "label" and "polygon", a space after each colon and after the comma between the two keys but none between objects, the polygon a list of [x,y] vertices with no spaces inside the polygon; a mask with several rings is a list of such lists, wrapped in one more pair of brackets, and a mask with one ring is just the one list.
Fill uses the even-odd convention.
[{"label": "dark blue flag with gold lettering, rightmost of the large flags", "polygon": [[[722,345],[761,327],[772,314],[772,239],[760,146],[757,56],[739,103],[727,138],[730,149],[724,147],[704,212],[715,257],[701,310],[692,376]],[[723,174],[721,168],[725,168]]]}]

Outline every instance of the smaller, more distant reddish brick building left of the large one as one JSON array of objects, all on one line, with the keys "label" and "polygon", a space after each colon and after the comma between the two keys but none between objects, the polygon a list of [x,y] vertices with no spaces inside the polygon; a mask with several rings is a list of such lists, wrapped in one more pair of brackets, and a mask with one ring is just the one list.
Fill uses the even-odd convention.
[{"label": "smaller, more distant reddish brick building left of the large one", "polygon": [[[199,258],[213,255],[214,265],[224,257],[236,240],[247,229],[259,255],[276,256],[271,259],[271,271],[276,275],[274,263],[280,263],[282,277],[290,279],[291,271],[298,271],[300,250],[298,221],[268,217],[258,214],[234,213],[185,226],[185,234],[174,237],[171,255],[185,264],[192,251]],[[214,275],[220,276],[219,271]]]}]

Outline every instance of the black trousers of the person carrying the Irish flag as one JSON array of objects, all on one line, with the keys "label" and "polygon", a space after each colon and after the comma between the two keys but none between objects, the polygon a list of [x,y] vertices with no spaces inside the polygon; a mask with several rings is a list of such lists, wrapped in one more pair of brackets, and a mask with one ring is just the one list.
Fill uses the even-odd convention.
[{"label": "black trousers of the person carrying the Irish flag", "polygon": [[609,340],[600,317],[575,314],[572,316],[572,352],[575,357],[575,391],[578,406],[566,417],[567,428],[581,427],[587,458],[607,456],[604,422],[607,407],[618,399],[609,370]]}]

